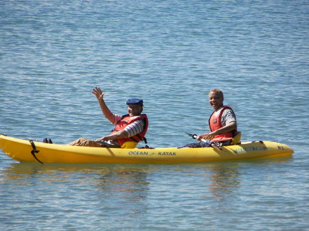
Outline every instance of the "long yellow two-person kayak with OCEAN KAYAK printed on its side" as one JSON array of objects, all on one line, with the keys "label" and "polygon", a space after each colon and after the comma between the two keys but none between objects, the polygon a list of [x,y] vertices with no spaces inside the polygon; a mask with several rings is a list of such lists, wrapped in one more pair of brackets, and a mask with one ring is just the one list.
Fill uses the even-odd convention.
[{"label": "long yellow two-person kayak with OCEAN KAYAK printed on its side", "polygon": [[288,145],[271,141],[252,141],[224,147],[177,149],[122,149],[105,147],[78,147],[27,141],[0,135],[0,148],[19,162],[41,163],[181,163],[242,160],[290,156]]}]

